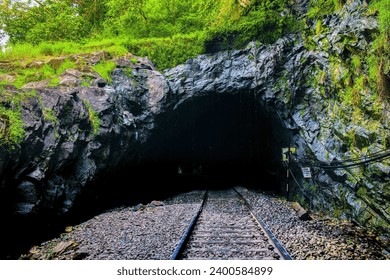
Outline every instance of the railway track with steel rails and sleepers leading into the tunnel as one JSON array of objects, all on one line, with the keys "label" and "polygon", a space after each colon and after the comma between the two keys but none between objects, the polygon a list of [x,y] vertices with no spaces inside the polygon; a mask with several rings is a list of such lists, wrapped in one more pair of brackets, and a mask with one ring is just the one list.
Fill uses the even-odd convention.
[{"label": "railway track with steel rails and sleepers leading into the tunnel", "polygon": [[206,192],[171,259],[288,260],[291,257],[233,188]]}]

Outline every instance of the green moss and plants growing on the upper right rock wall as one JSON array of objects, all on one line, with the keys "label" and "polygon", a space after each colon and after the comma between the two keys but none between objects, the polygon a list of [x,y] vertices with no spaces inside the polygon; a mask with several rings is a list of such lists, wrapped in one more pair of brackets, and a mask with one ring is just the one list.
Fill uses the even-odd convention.
[{"label": "green moss and plants growing on the upper right rock wall", "polygon": [[[330,111],[332,117],[346,124],[359,124],[368,131],[377,133],[383,119],[383,109],[388,104],[390,81],[390,0],[374,0],[366,7],[366,14],[376,15],[379,30],[368,35],[372,42],[365,48],[356,48],[357,38],[345,35],[338,47],[342,52],[330,49],[326,35],[329,30],[324,24],[327,15],[341,12],[344,0],[312,0],[307,13],[313,20],[314,28],[306,29],[306,46],[312,50],[326,51],[329,54],[329,79],[332,94],[340,100]],[[371,36],[371,37],[369,37]],[[320,39],[321,38],[321,39]],[[321,40],[321,44],[319,44]],[[318,69],[313,85],[325,93],[325,69]],[[367,118],[366,116],[370,116]],[[345,135],[350,150],[356,149],[355,132]],[[386,141],[383,141],[387,148]],[[360,151],[361,152],[361,151]]]}]

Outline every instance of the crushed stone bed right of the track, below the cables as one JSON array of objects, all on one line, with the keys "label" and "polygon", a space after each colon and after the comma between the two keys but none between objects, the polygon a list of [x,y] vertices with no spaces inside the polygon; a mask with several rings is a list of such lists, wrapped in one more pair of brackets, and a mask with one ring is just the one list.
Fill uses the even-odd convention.
[{"label": "crushed stone bed right of the track, below the cables", "polygon": [[237,188],[295,260],[385,260],[390,255],[374,233],[319,213],[298,218],[292,203]]}]

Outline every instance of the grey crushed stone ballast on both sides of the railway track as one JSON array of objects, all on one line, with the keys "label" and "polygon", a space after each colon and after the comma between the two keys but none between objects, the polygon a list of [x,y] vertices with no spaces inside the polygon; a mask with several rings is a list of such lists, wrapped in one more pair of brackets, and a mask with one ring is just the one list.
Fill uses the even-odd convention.
[{"label": "grey crushed stone ballast on both sides of the railway track", "polygon": [[[377,236],[348,221],[312,213],[298,218],[292,203],[242,187],[252,205],[287,252],[296,260],[384,260],[389,253]],[[204,195],[183,193],[164,201],[113,209],[67,227],[21,259],[166,260],[172,255]]]}]

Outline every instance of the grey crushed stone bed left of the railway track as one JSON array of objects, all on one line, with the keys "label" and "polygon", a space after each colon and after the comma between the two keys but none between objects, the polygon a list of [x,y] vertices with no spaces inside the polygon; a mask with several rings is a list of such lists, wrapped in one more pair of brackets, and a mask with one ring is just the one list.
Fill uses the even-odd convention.
[{"label": "grey crushed stone bed left of the railway track", "polygon": [[114,209],[69,233],[33,247],[22,259],[164,260],[169,259],[192,219],[204,191],[166,201]]}]

